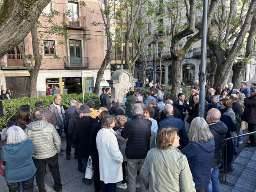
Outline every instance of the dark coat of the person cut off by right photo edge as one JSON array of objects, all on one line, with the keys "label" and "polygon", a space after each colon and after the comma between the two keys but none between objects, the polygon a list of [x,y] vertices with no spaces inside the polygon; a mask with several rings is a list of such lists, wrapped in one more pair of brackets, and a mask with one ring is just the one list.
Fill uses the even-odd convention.
[{"label": "dark coat of the person cut off by right photo edge", "polygon": [[242,114],[242,121],[256,124],[256,95],[245,97],[245,110]]}]

